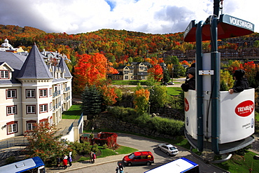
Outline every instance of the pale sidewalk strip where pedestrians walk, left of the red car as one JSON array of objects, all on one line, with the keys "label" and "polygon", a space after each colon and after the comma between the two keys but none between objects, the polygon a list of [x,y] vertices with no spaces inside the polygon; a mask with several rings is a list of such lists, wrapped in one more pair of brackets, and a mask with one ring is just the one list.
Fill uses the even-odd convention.
[{"label": "pale sidewalk strip where pedestrians walk, left of the red car", "polygon": [[[71,167],[67,167],[67,169],[64,169],[64,167],[45,167],[45,172],[52,173],[52,172],[69,172],[71,170],[75,169],[81,169],[83,167],[91,167],[96,165],[102,165],[107,162],[119,162],[123,160],[123,157],[126,154],[118,154],[118,155],[111,155],[106,158],[97,158],[94,163],[91,163],[89,160],[83,161],[83,162],[72,162]],[[117,164],[117,163],[116,163]]]}]

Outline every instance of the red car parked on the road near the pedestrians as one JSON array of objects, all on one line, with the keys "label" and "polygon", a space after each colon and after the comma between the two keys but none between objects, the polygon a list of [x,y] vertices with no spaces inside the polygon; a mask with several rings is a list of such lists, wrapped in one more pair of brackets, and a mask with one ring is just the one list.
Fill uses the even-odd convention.
[{"label": "red car parked on the road near the pedestrians", "polygon": [[126,155],[123,162],[129,167],[131,165],[151,165],[154,163],[154,157],[151,151],[137,151]]}]

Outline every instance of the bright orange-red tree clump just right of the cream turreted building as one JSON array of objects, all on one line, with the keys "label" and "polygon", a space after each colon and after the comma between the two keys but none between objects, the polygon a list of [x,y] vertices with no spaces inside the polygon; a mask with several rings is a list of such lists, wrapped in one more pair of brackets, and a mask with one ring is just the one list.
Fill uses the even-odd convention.
[{"label": "bright orange-red tree clump just right of the cream turreted building", "polygon": [[109,86],[110,83],[106,80],[108,74],[118,74],[118,71],[112,67],[112,63],[100,53],[77,55],[77,57],[74,89],[81,93],[85,86],[95,85],[98,90],[102,91],[106,104],[114,104],[117,95],[115,89]]}]

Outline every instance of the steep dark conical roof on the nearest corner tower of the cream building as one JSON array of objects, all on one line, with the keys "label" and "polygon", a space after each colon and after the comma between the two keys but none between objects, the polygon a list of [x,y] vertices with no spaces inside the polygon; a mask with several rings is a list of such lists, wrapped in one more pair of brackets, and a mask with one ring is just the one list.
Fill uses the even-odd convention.
[{"label": "steep dark conical roof on the nearest corner tower of the cream building", "polygon": [[32,46],[17,78],[53,78],[36,45]]}]

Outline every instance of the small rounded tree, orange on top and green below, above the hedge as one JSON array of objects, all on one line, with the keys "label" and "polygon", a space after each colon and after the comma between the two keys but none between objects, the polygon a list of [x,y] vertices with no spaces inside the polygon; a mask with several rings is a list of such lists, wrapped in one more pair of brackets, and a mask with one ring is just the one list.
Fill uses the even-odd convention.
[{"label": "small rounded tree, orange on top and green below, above the hedge", "polygon": [[134,109],[139,115],[143,115],[148,110],[149,95],[149,91],[141,87],[134,92]]}]

